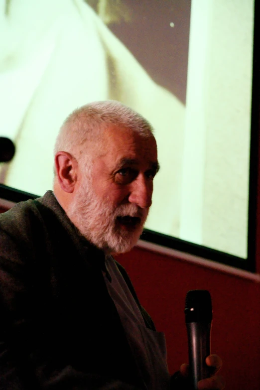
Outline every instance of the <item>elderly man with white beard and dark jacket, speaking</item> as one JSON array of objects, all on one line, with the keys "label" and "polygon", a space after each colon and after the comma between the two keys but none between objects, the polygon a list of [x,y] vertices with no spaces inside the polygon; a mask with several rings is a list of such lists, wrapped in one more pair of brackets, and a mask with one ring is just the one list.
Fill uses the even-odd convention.
[{"label": "elderly man with white beard and dark jacket, speaking", "polygon": [[188,386],[185,365],[170,379],[164,337],[111,256],[138,240],[157,171],[152,129],[128,107],[97,102],[65,121],[54,191],[0,216],[0,389]]}]

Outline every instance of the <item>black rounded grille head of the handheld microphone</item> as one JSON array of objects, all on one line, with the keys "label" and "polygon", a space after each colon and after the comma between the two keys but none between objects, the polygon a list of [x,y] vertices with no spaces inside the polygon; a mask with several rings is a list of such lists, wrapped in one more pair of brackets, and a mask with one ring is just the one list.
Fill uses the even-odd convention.
[{"label": "black rounded grille head of the handheld microphone", "polygon": [[185,321],[207,322],[212,321],[211,296],[207,290],[191,290],[187,292],[185,301]]}]

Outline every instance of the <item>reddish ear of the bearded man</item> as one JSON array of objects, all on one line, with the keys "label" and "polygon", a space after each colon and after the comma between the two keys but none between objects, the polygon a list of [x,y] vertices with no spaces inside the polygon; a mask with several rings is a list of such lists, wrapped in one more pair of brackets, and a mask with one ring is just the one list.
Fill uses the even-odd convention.
[{"label": "reddish ear of the bearded man", "polygon": [[72,193],[77,182],[78,162],[72,154],[58,151],[55,154],[56,176],[60,187],[65,192]]}]

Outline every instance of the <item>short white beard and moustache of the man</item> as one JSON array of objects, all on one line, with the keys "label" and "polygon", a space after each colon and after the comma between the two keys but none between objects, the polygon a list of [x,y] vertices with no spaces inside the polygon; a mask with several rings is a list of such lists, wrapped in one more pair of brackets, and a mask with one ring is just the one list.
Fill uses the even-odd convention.
[{"label": "short white beard and moustache of the man", "polygon": [[[139,217],[140,223],[134,229],[120,229],[117,217],[126,215]],[[98,198],[87,179],[68,208],[68,216],[81,234],[106,254],[130,251],[142,233],[147,215],[148,211],[133,203],[113,208],[108,199]]]}]

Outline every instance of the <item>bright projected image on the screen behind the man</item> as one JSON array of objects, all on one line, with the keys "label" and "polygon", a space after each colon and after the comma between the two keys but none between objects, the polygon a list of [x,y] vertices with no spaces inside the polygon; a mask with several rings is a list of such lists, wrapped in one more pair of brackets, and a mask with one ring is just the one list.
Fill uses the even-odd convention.
[{"label": "bright projected image on the screen behind the man", "polygon": [[158,144],[146,228],[247,258],[253,0],[5,0],[0,17],[1,183],[43,195],[64,119],[119,100]]}]

